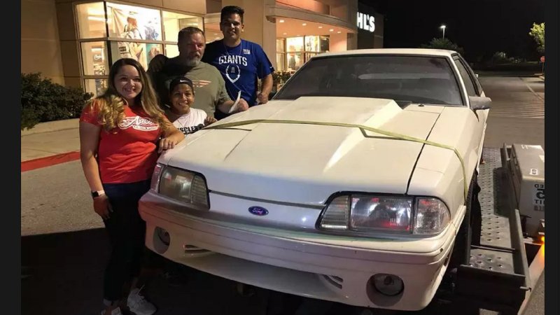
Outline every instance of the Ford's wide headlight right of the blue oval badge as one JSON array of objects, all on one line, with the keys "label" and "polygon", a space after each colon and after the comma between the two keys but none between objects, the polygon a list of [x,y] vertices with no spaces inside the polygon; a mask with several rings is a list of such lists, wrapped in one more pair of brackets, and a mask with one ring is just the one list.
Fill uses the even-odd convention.
[{"label": "Ford's wide headlight right of the blue oval badge", "polygon": [[342,195],[335,197],[318,220],[320,230],[397,232],[435,235],[449,224],[445,204],[431,197]]}]

